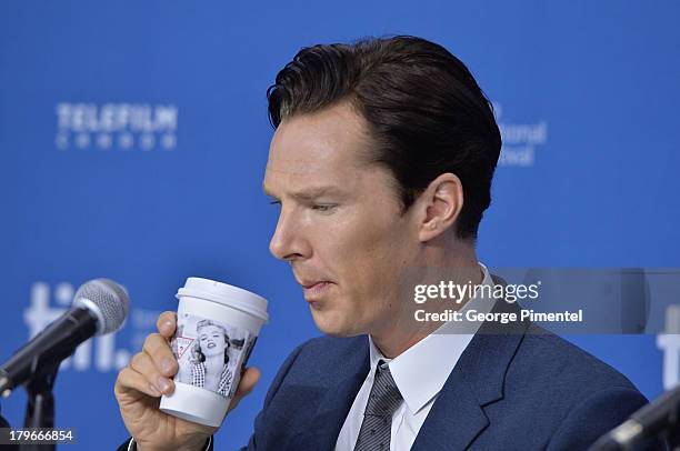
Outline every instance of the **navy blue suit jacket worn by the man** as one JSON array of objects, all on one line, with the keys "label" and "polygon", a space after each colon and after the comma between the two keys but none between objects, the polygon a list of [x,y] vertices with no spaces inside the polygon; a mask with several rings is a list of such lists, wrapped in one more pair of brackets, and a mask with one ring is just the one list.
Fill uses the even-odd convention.
[{"label": "navy blue suit jacket worn by the man", "polygon": [[[494,310],[517,309],[498,302]],[[243,450],[333,450],[368,371],[366,335],[298,347],[272,382]],[[584,450],[646,402],[613,368],[534,324],[484,323],[411,449]]]}]

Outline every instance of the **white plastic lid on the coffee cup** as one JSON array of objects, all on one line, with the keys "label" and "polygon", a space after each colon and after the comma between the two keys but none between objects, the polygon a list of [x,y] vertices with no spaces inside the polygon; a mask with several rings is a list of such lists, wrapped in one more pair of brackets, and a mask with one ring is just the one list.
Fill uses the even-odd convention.
[{"label": "white plastic lid on the coffee cup", "polygon": [[176,298],[183,295],[218,302],[258,317],[264,323],[269,322],[267,299],[239,287],[210,279],[188,278],[184,287],[177,291]]}]

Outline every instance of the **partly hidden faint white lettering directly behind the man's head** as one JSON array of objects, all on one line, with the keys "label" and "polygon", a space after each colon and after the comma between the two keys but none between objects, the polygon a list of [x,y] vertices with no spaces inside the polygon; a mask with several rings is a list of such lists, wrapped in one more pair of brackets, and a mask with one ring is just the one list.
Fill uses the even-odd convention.
[{"label": "partly hidden faint white lettering directly behind the man's head", "polygon": [[537,149],[548,141],[548,122],[509,122],[503,120],[503,107],[498,102],[491,103],[503,139],[498,166],[532,167]]}]

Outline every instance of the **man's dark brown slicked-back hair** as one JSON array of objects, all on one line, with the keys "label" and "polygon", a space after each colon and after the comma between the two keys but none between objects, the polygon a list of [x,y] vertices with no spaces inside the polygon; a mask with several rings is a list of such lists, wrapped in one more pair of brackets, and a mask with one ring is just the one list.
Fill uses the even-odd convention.
[{"label": "man's dark brown slicked-back hair", "polygon": [[491,203],[501,137],[491,103],[447,49],[410,36],[303,48],[277,74],[267,99],[274,128],[350,102],[376,143],[370,161],[391,171],[403,211],[451,172],[464,194],[457,235],[474,240]]}]

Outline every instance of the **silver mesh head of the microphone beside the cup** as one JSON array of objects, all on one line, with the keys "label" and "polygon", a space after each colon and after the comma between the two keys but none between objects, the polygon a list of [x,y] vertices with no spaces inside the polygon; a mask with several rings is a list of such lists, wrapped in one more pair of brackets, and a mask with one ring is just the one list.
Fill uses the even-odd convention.
[{"label": "silver mesh head of the microphone beside the cup", "polygon": [[94,279],[80,285],[73,307],[88,310],[97,318],[97,335],[116,332],[126,321],[130,297],[124,287],[109,279]]}]

